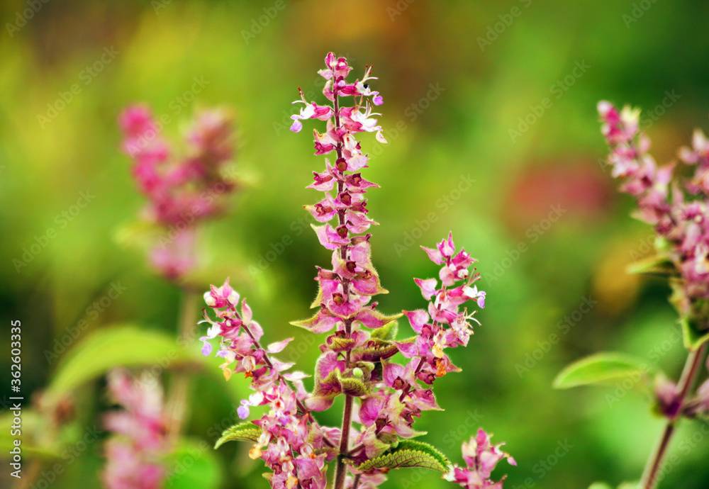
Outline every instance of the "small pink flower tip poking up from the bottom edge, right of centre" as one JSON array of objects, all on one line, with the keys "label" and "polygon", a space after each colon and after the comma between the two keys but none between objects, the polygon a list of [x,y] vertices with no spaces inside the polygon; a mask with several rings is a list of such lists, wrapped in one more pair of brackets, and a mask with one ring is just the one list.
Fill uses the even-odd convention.
[{"label": "small pink flower tip poking up from the bottom edge, right of centre", "polygon": [[502,459],[507,459],[510,465],[516,466],[517,462],[509,454],[501,451],[503,445],[493,445],[491,435],[482,429],[476,437],[463,444],[463,459],[467,468],[452,466],[450,472],[444,477],[446,480],[457,483],[466,489],[502,489],[503,480],[493,482],[490,476],[495,466]]}]

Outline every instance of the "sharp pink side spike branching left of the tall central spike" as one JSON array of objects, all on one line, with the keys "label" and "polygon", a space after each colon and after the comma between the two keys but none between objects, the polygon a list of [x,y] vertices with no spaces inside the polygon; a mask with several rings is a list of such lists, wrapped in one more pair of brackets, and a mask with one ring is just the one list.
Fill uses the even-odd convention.
[{"label": "sharp pink side spike branching left of the tall central spike", "polygon": [[[316,449],[334,446],[323,431],[313,422],[303,406],[307,393],[301,372],[285,373],[293,364],[275,359],[272,354],[281,352],[293,338],[269,344],[263,348],[259,343],[262,327],[252,320],[251,308],[226,281],[221,287],[212,287],[205,293],[206,304],[215,310],[216,320],[205,313],[204,322],[211,326],[207,335],[201,337],[202,353],[211,354],[209,340],[218,337],[216,353],[224,359],[221,368],[228,380],[233,373],[243,373],[251,378],[255,393],[242,400],[238,415],[246,419],[250,408],[268,405],[267,412],[255,425],[262,429],[257,443],[249,452],[252,459],[261,458],[272,469],[269,480],[274,488],[324,489],[326,454],[316,455]],[[336,435],[336,434],[335,434]]]}]

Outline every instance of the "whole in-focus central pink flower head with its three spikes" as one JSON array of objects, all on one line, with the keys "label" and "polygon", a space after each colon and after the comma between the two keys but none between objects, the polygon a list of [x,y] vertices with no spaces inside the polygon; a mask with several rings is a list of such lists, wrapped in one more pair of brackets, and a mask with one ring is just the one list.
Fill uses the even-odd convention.
[{"label": "whole in-focus central pink flower head with its three spikes", "polygon": [[[386,290],[372,264],[372,236],[367,231],[376,223],[367,216],[365,198],[376,185],[362,178],[360,170],[367,167],[368,156],[355,135],[374,132],[377,140],[386,142],[372,118],[378,115],[372,106],[381,105],[382,99],[369,87],[375,79],[371,67],[362,80],[349,82],[351,68],[345,58],[330,53],[325,65],[319,73],[327,80],[323,94],[332,105],[306,101],[301,91],[296,103],[304,107],[292,116],[291,127],[297,133],[302,120],[327,120],[324,134],[314,132],[315,150],[334,153],[335,158],[334,164],[325,159],[325,171],[314,172],[308,186],[323,192],[323,198],[305,206],[320,223],[313,229],[320,245],[332,252],[331,266],[318,267],[318,294],[311,305],[315,315],[292,323],[327,334],[320,344],[313,390],[304,388],[305,374],[286,373],[292,364],[272,356],[291,339],[262,347],[262,328],[252,320],[245,300],[238,310],[240,296],[228,281],[205,294],[216,319],[205,315],[211,326],[201,338],[202,352],[211,354],[211,341],[219,338],[216,354],[224,359],[225,377],[238,372],[251,378],[255,393],[242,401],[238,410],[242,419],[250,415],[250,408],[268,406],[269,411],[252,422],[260,429],[250,455],[263,459],[272,470],[266,477],[273,488],[325,488],[326,463],[336,461],[335,489],[372,489],[386,480],[390,468],[380,457],[393,456],[400,438],[421,434],[413,429],[421,412],[440,410],[431,385],[445,373],[459,371],[444,350],[467,345],[472,334],[469,321],[477,321],[461,306],[474,300],[483,307],[485,293],[474,286],[479,274],[469,270],[475,260],[463,249],[456,253],[449,235],[436,249],[424,248],[442,266],[440,288],[436,279],[416,280],[430,300],[428,310],[385,315],[376,307],[372,298]],[[347,96],[354,104],[341,106]],[[396,320],[404,314],[416,336],[397,341]],[[399,353],[403,365],[393,360]],[[340,395],[345,398],[342,427],[318,425],[314,413],[332,407]]]}]

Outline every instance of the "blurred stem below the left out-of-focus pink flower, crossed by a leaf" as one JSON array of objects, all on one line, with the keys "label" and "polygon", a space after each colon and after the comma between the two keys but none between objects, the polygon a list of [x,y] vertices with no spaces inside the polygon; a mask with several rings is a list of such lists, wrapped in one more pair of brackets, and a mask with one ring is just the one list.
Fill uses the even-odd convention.
[{"label": "blurred stem below the left out-of-focus pink flower, crossed by a leaf", "polygon": [[[196,313],[199,310],[199,295],[195,291],[185,289],[182,293],[182,308],[178,318],[179,342],[191,344],[195,337],[197,325]],[[187,395],[189,394],[190,374],[179,371],[175,373],[170,386],[167,401],[167,429],[173,439],[179,437],[187,416]]]}]

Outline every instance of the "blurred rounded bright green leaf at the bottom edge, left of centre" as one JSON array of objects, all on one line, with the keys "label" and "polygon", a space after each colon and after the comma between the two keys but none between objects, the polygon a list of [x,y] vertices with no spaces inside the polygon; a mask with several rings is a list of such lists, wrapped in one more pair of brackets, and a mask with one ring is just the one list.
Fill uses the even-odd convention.
[{"label": "blurred rounded bright green leaf at the bottom edge, left of centre", "polygon": [[221,466],[203,440],[186,439],[167,457],[167,480],[171,489],[217,489],[222,483]]}]

